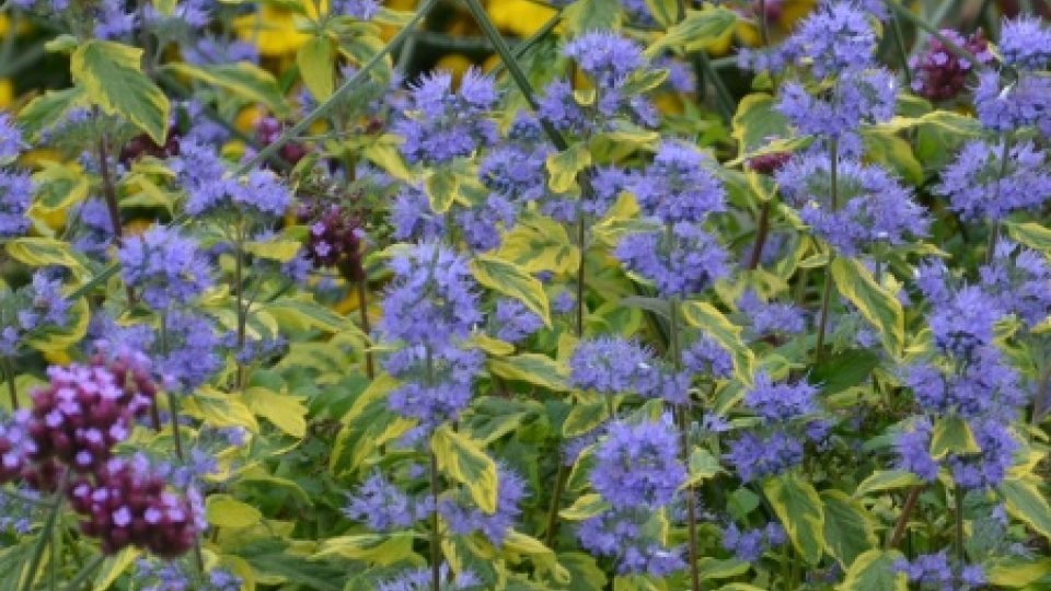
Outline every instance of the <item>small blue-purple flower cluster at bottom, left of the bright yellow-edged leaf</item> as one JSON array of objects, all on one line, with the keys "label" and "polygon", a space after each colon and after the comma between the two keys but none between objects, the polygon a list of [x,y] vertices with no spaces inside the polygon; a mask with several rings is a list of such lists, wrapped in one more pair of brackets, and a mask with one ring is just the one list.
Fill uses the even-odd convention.
[{"label": "small blue-purple flower cluster at bottom, left of the bright yellow-edged leaf", "polygon": [[412,528],[434,511],[428,496],[411,496],[379,472],[369,476],[347,496],[343,512],[355,521],[363,521],[374,532]]}]

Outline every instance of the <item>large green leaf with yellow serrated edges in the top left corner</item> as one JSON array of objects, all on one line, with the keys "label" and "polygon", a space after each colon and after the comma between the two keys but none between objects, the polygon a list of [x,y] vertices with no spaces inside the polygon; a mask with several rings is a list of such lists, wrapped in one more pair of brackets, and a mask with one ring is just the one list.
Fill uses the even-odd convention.
[{"label": "large green leaf with yellow serrated edges in the top left corner", "polygon": [[141,69],[142,49],[119,43],[84,42],[70,58],[73,82],[108,115],[119,115],[164,144],[171,104]]}]

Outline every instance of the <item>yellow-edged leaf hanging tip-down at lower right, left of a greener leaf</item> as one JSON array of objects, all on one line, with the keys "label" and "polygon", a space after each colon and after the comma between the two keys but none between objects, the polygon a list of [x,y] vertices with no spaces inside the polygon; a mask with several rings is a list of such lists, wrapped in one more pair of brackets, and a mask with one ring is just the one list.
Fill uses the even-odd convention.
[{"label": "yellow-edged leaf hanging tip-down at lower right, left of a greener leaf", "polygon": [[807,563],[817,564],[825,545],[824,512],[818,491],[795,474],[784,474],[763,483],[763,493],[799,555]]}]

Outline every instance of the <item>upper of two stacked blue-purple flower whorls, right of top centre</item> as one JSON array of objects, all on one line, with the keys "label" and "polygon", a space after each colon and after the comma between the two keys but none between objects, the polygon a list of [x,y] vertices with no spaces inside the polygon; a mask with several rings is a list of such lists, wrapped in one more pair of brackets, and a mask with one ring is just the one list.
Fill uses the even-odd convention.
[{"label": "upper of two stacked blue-purple flower whorls, right of top centre", "polygon": [[711,159],[693,148],[665,141],[654,162],[632,179],[632,192],[642,210],[662,223],[703,222],[726,209],[726,192],[706,164]]}]

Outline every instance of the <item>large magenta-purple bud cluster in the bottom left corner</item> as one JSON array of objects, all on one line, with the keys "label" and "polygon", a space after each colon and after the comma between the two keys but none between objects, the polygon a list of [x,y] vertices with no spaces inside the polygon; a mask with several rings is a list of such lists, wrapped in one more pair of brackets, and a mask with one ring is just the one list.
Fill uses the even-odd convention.
[{"label": "large magenta-purple bud cluster in the bottom left corner", "polygon": [[128,545],[164,557],[188,551],[203,528],[199,499],[169,493],[145,461],[113,455],[153,404],[148,371],[116,356],[106,364],[99,357],[89,366],[51,367],[48,375],[50,383],[33,391],[32,408],[0,429],[0,482],[20,478],[35,490],[65,494],[84,519],[83,533],[100,538],[106,554]]}]

